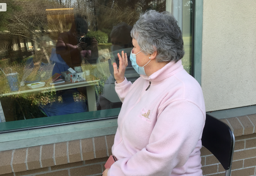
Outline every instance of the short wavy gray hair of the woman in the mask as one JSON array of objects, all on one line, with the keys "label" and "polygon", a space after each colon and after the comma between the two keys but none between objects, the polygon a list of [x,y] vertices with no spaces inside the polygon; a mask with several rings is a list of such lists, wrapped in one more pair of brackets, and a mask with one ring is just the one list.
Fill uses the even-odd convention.
[{"label": "short wavy gray hair of the woman in the mask", "polygon": [[178,62],[185,54],[182,32],[170,12],[147,11],[134,24],[131,36],[144,54],[157,51],[157,62]]}]

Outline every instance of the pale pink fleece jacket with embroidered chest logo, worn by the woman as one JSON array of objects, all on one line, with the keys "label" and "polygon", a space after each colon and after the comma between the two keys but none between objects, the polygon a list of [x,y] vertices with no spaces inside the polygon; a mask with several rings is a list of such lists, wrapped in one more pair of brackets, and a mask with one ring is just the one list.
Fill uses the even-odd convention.
[{"label": "pale pink fleece jacket with embroidered chest logo, worn by the woman", "polygon": [[123,104],[112,146],[118,161],[108,176],[202,176],[205,102],[181,60],[115,84]]}]

